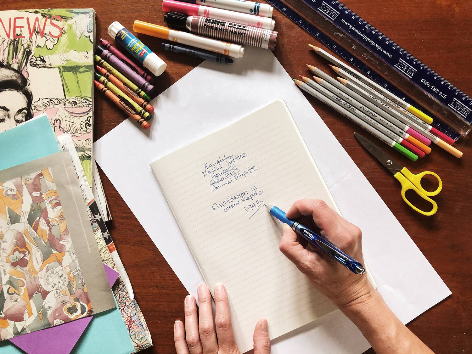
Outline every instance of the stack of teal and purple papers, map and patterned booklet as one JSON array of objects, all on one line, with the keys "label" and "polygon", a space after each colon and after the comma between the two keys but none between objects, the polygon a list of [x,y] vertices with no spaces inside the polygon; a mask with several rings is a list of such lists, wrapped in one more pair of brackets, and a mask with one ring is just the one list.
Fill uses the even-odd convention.
[{"label": "stack of teal and purple papers, map and patterned booklet", "polygon": [[0,134],[1,339],[27,353],[133,353],[152,345],[149,331],[88,206],[76,149],[61,140],[67,151],[46,115]]}]

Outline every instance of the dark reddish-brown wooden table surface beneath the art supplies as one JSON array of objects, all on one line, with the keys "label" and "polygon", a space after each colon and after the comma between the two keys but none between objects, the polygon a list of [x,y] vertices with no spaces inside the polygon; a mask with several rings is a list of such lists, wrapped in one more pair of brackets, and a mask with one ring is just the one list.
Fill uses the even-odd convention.
[{"label": "dark reddish-brown wooden table surface beneath the art supplies", "polygon": [[[472,96],[472,5],[469,1],[341,1]],[[128,29],[133,28],[135,19],[165,25],[161,1],[3,0],[2,3],[2,10],[95,8],[97,38],[108,38],[108,25],[117,20]],[[277,10],[274,10],[273,18],[276,21],[275,30],[279,32],[274,54],[290,76],[309,74],[305,68],[307,63],[327,67],[327,62],[308,50],[307,44],[316,45],[317,41]],[[162,41],[159,39],[142,38],[168,63],[166,72],[157,80],[159,92],[201,62],[199,59],[162,51]],[[326,71],[329,72],[328,69]],[[408,328],[437,353],[472,352],[472,218],[469,214],[472,205],[469,182],[472,177],[471,139],[461,138],[456,143],[456,147],[464,152],[461,159],[452,157],[438,147],[433,147],[430,156],[416,163],[388,151],[399,162],[411,167],[413,172],[431,170],[441,176],[443,190],[435,197],[438,213],[433,217],[422,217],[403,202],[398,182],[354,139],[354,131],[360,129],[312,97],[308,97],[308,100],[452,291],[451,296],[413,320]],[[122,112],[100,93],[95,94],[94,114],[95,140],[123,119]],[[183,319],[183,303],[187,292],[102,172],[101,177],[113,216],[109,225],[110,233],[152,334],[154,346],[145,353],[173,353],[174,320]],[[313,353],[316,352],[316,348],[313,348]],[[368,353],[373,353],[373,350]]]}]

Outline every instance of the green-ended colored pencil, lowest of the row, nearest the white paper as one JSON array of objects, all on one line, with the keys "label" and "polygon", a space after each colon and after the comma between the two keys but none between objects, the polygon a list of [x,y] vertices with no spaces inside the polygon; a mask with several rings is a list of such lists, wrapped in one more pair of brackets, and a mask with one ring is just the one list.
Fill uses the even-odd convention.
[{"label": "green-ended colored pencil, lowest of the row, nearest the white paper", "polygon": [[300,80],[294,79],[295,84],[297,84],[303,91],[311,94],[313,97],[318,99],[319,101],[323,102],[327,106],[331,107],[333,110],[341,113],[344,117],[348,118],[349,120],[353,121],[355,124],[360,126],[362,129],[368,131],[375,137],[379,138],[382,142],[386,143],[388,146],[394,148],[396,151],[400,152],[401,154],[405,155],[408,159],[412,161],[418,160],[418,156],[415,155],[413,152],[410,152],[408,149],[405,149],[399,143],[396,143],[393,139],[389,138],[385,134],[379,132],[377,129],[373,128],[369,124],[365,123],[362,119],[356,117],[352,112],[346,110],[344,107],[339,105],[336,101],[333,101],[329,97],[326,97],[319,91],[312,88],[310,85],[305,84]]}]

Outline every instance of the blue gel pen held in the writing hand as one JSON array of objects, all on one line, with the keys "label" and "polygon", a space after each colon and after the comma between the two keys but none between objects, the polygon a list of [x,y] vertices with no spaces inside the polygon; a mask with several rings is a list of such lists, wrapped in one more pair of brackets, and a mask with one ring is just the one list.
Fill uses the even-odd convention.
[{"label": "blue gel pen held in the writing hand", "polygon": [[348,270],[352,271],[355,274],[364,274],[364,266],[358,261],[356,261],[354,258],[348,256],[346,253],[341,251],[334,244],[325,240],[320,235],[315,234],[312,230],[310,230],[306,226],[303,226],[299,222],[288,219],[285,212],[278,209],[277,207],[266,204],[266,208],[270,212],[270,215],[280,220],[284,224],[290,226],[297,235],[300,235],[305,238],[308,242],[318,247],[321,251],[337,260]]}]

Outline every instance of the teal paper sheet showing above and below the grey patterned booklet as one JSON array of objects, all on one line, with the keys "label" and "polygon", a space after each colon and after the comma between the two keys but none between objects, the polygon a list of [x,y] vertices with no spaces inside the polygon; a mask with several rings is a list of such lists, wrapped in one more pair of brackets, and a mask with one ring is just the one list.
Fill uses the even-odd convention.
[{"label": "teal paper sheet showing above and below the grey patterned booklet", "polygon": [[[0,170],[59,152],[59,145],[45,114],[0,133]],[[134,353],[118,307],[93,316],[72,353]],[[8,340],[0,342],[1,354],[22,354]]]}]

